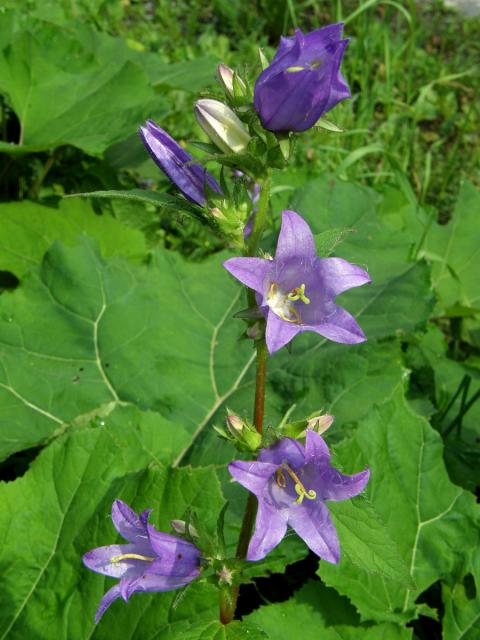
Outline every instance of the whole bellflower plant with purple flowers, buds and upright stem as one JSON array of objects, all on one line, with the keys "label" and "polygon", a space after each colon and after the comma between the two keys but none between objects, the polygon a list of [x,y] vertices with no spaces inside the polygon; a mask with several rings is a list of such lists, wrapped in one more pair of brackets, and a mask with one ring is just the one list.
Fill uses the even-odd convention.
[{"label": "whole bellflower plant with purple flowers, buds and upright stem", "polygon": [[[333,24],[312,33],[297,29],[295,35],[282,38],[272,63],[255,83],[247,70],[240,75],[220,65],[218,77],[226,103],[204,97],[194,107],[200,126],[218,152],[211,154],[210,145],[200,143],[206,154],[194,161],[152,120],[140,128],[140,137],[156,164],[185,198],[203,207],[200,210],[177,199],[179,209],[184,207],[206,222],[210,232],[218,233],[221,247],[236,252],[223,264],[245,286],[247,308],[237,310],[235,317],[246,323],[241,337],[256,351],[254,410],[253,417],[246,417],[241,407],[233,407],[233,411],[225,407],[226,428],[212,427],[226,446],[252,458],[235,460],[232,454],[229,460],[234,461],[228,466],[233,479],[251,494],[234,557],[228,555],[225,544],[226,508],[218,515],[214,533],[204,530],[195,505],[187,505],[185,513],[169,514],[176,534],[172,536],[148,523],[150,510],[137,515],[116,500],[112,520],[127,543],[99,547],[83,557],[92,571],[119,580],[103,597],[97,622],[117,598],[128,600],[136,592],[169,591],[189,584],[199,577],[201,562],[207,572],[205,580],[218,588],[220,620],[228,624],[235,616],[239,588],[248,580],[245,561],[265,558],[280,544],[288,527],[320,558],[339,562],[340,544],[327,502],[361,493],[370,473],[366,469],[347,476],[331,465],[328,446],[320,435],[333,423],[328,407],[325,413],[310,407],[307,416],[295,415],[288,422],[290,413],[296,411],[296,398],[288,398],[292,409],[277,425],[269,417],[268,429],[263,432],[267,365],[270,354],[306,331],[344,345],[366,340],[356,319],[336,298],[369,283],[370,277],[365,269],[342,258],[319,257],[309,224],[295,211],[282,212],[274,257],[262,253],[262,241],[267,223],[273,226],[276,221],[273,217],[269,220],[272,170],[286,166],[293,148],[294,136],[284,133],[312,127],[350,96],[340,72],[348,42],[342,39],[342,30],[342,24]],[[222,166],[221,187],[204,167],[211,162]],[[179,279],[182,288],[181,275]],[[171,295],[176,293],[176,288],[172,289]],[[215,295],[214,288],[211,295]],[[171,296],[168,304],[172,304]],[[182,326],[177,330],[182,331]],[[214,337],[216,333],[217,329]],[[217,396],[220,408],[228,394]],[[232,400],[235,398],[233,395]],[[254,496],[258,500],[256,521]],[[341,564],[338,570],[342,570]]]}]

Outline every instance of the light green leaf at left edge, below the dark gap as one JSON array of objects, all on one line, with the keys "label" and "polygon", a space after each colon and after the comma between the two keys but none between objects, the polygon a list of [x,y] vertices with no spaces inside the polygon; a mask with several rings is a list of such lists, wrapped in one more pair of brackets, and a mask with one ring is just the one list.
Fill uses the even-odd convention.
[{"label": "light green leaf at left edge, below the dark gap", "polygon": [[18,278],[38,264],[54,240],[74,243],[80,235],[95,238],[105,256],[143,258],[143,235],[108,214],[96,215],[88,203],[60,201],[58,209],[35,202],[0,204],[0,269]]}]

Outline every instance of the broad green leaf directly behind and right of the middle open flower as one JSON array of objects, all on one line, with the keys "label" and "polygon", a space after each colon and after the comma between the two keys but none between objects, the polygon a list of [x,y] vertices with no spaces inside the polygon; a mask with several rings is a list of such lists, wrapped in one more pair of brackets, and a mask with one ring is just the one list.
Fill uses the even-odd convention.
[{"label": "broad green leaf directly behind and right of the middle open flower", "polygon": [[347,291],[338,302],[360,318],[368,339],[412,333],[426,322],[434,303],[430,274],[425,264],[413,261],[424,220],[402,192],[387,190],[380,196],[324,176],[299,187],[290,208],[307,219],[315,234],[350,230],[335,253],[366,268],[372,284]]}]

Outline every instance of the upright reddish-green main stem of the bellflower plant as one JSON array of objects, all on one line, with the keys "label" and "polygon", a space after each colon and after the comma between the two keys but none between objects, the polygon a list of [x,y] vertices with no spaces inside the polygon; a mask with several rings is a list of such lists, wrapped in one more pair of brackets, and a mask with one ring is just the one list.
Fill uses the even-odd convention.
[{"label": "upright reddish-green main stem of the bellflower plant", "polygon": [[[246,255],[255,256],[258,251],[260,239],[265,228],[268,212],[268,199],[270,195],[270,175],[267,175],[260,193],[260,200],[258,203],[257,213],[255,215],[255,221],[251,236],[249,238]],[[252,289],[247,289],[248,306],[253,308],[257,302],[255,300],[255,292]],[[263,431],[263,415],[265,409],[265,382],[267,376],[267,358],[268,351],[265,338],[257,340],[257,372],[255,379],[255,403],[253,407],[253,424],[255,425],[258,433]],[[245,507],[245,513],[243,514],[242,528],[240,530],[240,536],[238,538],[236,557],[243,560],[247,555],[248,543],[250,536],[252,535],[253,523],[255,520],[255,514],[257,511],[257,500],[253,493],[248,494],[247,505]],[[220,593],[220,621],[223,624],[228,624],[233,620],[235,615],[235,609],[237,606],[239,585],[235,585],[231,590],[226,593]]]}]

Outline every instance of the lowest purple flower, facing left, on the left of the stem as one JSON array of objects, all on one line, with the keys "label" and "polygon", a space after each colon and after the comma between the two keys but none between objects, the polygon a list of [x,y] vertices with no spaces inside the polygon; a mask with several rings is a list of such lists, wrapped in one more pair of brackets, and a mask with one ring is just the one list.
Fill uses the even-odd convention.
[{"label": "lowest purple flower, facing left, on the left of the stem", "polygon": [[148,524],[150,511],[137,515],[125,502],[115,500],[112,521],[129,544],[98,547],[83,556],[88,569],[120,580],[103,596],[95,622],[117,598],[127,601],[137,591],[172,591],[200,575],[197,547],[157,531]]}]

